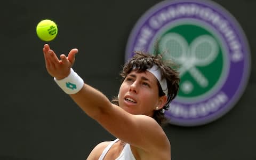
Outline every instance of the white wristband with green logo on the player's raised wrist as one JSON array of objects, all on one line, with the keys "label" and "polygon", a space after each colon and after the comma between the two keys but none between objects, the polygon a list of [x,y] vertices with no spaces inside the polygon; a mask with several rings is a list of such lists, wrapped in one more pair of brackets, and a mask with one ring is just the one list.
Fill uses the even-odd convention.
[{"label": "white wristband with green logo on the player's raised wrist", "polygon": [[70,74],[60,80],[54,77],[54,81],[60,86],[60,88],[67,94],[75,94],[80,91],[84,85],[84,81],[81,77],[70,68]]}]

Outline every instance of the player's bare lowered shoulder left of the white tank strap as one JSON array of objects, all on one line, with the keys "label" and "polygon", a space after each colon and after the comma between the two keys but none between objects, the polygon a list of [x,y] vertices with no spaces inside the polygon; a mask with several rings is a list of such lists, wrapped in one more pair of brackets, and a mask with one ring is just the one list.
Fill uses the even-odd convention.
[{"label": "player's bare lowered shoulder left of the white tank strap", "polygon": [[95,146],[91,151],[90,155],[87,157],[87,160],[99,159],[102,151],[109,145],[110,142],[111,141],[101,142],[97,146]]}]

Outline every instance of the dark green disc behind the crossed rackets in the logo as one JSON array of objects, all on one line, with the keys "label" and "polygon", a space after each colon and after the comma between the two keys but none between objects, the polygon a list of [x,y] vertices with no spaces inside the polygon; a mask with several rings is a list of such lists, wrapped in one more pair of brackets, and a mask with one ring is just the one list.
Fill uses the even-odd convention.
[{"label": "dark green disc behind the crossed rackets in the logo", "polygon": [[[175,33],[179,34],[183,38],[185,38],[185,41],[188,43],[188,47],[191,49],[191,43],[195,41],[195,39],[202,35],[209,35],[217,42],[218,45],[218,53],[217,57],[207,66],[195,66],[196,69],[198,69],[199,72],[201,72],[205,78],[208,80],[209,85],[206,87],[200,86],[193,76],[189,73],[189,71],[185,71],[185,73],[181,77],[180,85],[182,85],[185,81],[191,82],[193,84],[193,90],[190,93],[185,93],[182,91],[182,89],[179,91],[178,96],[180,98],[195,98],[201,95],[206,94],[209,90],[215,89],[220,87],[220,85],[217,85],[217,82],[220,79],[222,68],[227,63],[229,65],[228,60],[223,60],[223,55],[229,54],[229,53],[223,53],[223,49],[221,48],[221,44],[218,40],[220,37],[216,37],[214,33],[211,33],[210,31],[207,31],[204,27],[201,27],[199,25],[193,24],[193,25],[186,25],[186,24],[180,24],[179,26],[175,26],[173,28],[170,28],[168,30],[165,30],[164,33],[159,36],[159,39],[164,37],[165,35],[169,33]],[[161,41],[161,40],[160,40]],[[170,49],[171,50],[171,49]],[[159,50],[160,53],[164,53],[164,50]],[[165,53],[168,54],[168,53]],[[189,60],[189,57],[188,57]],[[185,62],[186,63],[186,62]],[[179,64],[182,67],[182,64]]]}]

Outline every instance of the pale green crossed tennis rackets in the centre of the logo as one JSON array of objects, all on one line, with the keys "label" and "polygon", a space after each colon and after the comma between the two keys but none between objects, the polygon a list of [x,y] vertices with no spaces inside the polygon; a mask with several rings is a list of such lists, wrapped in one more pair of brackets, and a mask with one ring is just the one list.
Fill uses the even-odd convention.
[{"label": "pale green crossed tennis rackets in the centre of the logo", "polygon": [[188,45],[181,35],[169,33],[159,41],[159,49],[167,50],[164,57],[173,59],[181,65],[180,77],[188,71],[200,86],[208,86],[208,79],[196,66],[207,66],[215,60],[218,54],[215,39],[209,35],[202,35]]}]

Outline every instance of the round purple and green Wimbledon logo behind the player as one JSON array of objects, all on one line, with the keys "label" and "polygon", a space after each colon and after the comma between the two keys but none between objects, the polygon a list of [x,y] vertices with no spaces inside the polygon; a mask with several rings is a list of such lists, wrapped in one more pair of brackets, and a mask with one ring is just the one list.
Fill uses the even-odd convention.
[{"label": "round purple and green Wimbledon logo behind the player", "polygon": [[163,1],[134,26],[125,60],[134,51],[158,53],[180,65],[180,91],[165,115],[181,126],[202,125],[226,114],[241,97],[250,51],[235,18],[211,1]]}]

